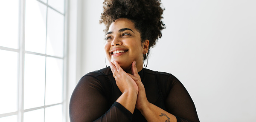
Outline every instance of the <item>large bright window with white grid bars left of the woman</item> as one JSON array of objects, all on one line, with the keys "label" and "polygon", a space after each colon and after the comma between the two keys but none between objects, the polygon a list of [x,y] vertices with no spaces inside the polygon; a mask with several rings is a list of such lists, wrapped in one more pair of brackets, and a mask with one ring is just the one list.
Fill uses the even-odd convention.
[{"label": "large bright window with white grid bars left of the woman", "polygon": [[0,122],[65,122],[66,0],[0,1]]}]

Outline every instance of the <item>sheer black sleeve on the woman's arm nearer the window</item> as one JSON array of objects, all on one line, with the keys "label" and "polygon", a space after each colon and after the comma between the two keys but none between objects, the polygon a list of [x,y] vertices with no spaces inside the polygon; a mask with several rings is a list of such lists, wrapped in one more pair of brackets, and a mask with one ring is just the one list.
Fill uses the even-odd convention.
[{"label": "sheer black sleeve on the woman's arm nearer the window", "polygon": [[70,99],[70,122],[130,122],[132,113],[107,99],[108,84],[102,75],[82,77]]}]

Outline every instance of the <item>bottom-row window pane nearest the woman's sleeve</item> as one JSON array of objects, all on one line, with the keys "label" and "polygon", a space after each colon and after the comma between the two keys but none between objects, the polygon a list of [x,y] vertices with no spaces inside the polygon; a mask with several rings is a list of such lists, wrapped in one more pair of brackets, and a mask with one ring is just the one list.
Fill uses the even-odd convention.
[{"label": "bottom-row window pane nearest the woman's sleeve", "polygon": [[45,108],[45,122],[62,122],[62,105]]}]

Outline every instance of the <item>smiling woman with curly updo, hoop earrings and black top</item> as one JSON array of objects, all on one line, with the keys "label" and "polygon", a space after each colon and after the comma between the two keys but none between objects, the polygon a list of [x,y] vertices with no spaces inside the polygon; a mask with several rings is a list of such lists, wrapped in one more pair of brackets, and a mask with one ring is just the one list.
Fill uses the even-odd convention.
[{"label": "smiling woman with curly updo, hoop earrings and black top", "polygon": [[176,77],[143,68],[165,28],[160,0],[105,0],[103,8],[110,67],[80,79],[70,99],[70,121],[199,122]]}]

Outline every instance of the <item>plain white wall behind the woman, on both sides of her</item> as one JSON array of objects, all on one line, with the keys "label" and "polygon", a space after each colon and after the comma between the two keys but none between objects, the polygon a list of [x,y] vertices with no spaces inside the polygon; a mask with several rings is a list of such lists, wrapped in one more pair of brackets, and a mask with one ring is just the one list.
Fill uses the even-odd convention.
[{"label": "plain white wall behind the woman, on both sides of her", "polygon": [[[105,67],[103,0],[82,3],[82,75]],[[201,122],[255,121],[256,1],[162,0],[163,37],[148,68],[175,75]]]}]

